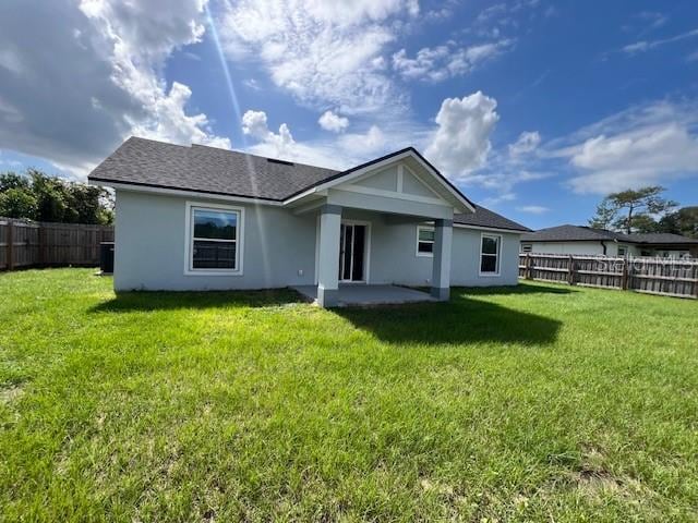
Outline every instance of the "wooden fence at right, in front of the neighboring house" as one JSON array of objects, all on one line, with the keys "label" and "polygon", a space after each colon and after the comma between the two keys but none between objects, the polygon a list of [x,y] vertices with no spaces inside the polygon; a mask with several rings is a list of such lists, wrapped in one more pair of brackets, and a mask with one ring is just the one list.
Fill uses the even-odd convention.
[{"label": "wooden fence at right, in front of the neighboring house", "polygon": [[698,259],[527,253],[519,278],[698,299]]}]

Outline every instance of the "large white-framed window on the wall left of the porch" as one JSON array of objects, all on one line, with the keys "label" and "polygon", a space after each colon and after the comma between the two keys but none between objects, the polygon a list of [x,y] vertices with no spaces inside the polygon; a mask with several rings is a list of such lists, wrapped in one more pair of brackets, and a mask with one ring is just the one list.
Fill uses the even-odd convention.
[{"label": "large white-framed window on the wall left of the porch", "polygon": [[241,273],[242,209],[188,204],[188,273]]}]

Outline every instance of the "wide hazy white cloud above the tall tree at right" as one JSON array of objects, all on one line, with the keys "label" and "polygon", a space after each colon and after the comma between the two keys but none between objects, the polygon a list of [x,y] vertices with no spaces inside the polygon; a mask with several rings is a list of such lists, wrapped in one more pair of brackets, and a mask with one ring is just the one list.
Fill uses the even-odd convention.
[{"label": "wide hazy white cloud above the tall tree at right", "polygon": [[660,101],[634,107],[583,127],[547,148],[577,171],[578,193],[698,177],[698,105]]}]

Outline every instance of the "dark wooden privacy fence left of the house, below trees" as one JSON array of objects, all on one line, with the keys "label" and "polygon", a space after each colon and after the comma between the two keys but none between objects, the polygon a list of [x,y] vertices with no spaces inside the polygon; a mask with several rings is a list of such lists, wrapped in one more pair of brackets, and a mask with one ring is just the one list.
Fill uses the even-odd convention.
[{"label": "dark wooden privacy fence left of the house, below trees", "polygon": [[0,218],[0,270],[98,265],[101,242],[113,242],[113,227]]}]

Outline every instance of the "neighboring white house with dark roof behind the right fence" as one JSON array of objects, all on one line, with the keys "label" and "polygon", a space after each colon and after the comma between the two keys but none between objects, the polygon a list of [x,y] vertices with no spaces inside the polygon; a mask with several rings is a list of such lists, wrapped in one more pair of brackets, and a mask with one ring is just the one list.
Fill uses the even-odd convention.
[{"label": "neighboring white house with dark roof behind the right fence", "polygon": [[580,226],[559,226],[521,235],[522,253],[606,256],[698,257],[698,240],[669,233],[624,234]]}]

